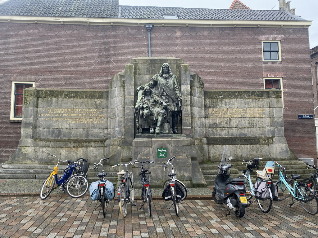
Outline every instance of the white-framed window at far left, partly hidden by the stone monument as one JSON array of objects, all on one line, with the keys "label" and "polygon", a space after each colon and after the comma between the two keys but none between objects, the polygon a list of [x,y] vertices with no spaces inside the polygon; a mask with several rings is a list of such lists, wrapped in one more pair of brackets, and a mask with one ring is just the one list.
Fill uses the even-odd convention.
[{"label": "white-framed window at far left, partly hidden by the stone monument", "polygon": [[12,81],[10,120],[22,119],[23,90],[34,87],[34,82]]}]

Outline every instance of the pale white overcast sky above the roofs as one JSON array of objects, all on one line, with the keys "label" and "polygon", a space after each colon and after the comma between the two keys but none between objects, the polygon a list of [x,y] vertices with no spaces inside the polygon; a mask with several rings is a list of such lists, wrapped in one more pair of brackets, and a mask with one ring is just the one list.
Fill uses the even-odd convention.
[{"label": "pale white overcast sky above the roofs", "polygon": [[[278,0],[240,0],[253,10],[279,10]],[[309,27],[310,48],[318,45],[318,0],[286,0],[296,15],[312,21]],[[233,0],[119,0],[120,5],[229,9]]]}]

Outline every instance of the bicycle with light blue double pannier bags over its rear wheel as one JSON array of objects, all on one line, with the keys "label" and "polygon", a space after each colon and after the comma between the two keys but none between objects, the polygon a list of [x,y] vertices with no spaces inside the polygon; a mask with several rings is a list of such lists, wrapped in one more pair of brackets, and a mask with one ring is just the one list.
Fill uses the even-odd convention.
[{"label": "bicycle with light blue double pannier bags over its rear wheel", "polygon": [[[99,177],[99,179],[95,182],[92,182],[90,186],[90,195],[91,199],[93,201],[98,200],[100,202],[100,205],[103,210],[104,217],[106,216],[106,209],[107,204],[112,201],[115,197],[115,187],[112,182],[105,179],[105,176],[107,176],[107,173],[104,173],[104,166],[101,162],[108,160],[109,158],[101,159],[99,163],[94,163],[94,169],[99,170],[99,166],[102,167],[101,173],[98,173],[96,176]],[[97,209],[99,206],[97,206],[95,209]],[[95,210],[94,209],[94,210]]]}]

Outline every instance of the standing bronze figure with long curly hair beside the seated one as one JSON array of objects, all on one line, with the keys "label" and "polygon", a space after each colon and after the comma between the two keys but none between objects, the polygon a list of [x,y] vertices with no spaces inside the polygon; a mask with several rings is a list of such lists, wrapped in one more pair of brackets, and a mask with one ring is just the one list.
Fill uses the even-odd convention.
[{"label": "standing bronze figure with long curly hair beside the seated one", "polygon": [[157,120],[156,133],[161,132],[161,125],[166,117],[170,123],[171,131],[178,133],[177,123],[179,115],[182,112],[182,97],[178,80],[172,74],[168,63],[164,63],[159,74],[154,75],[149,86],[161,98],[158,105],[154,109],[154,120]]}]

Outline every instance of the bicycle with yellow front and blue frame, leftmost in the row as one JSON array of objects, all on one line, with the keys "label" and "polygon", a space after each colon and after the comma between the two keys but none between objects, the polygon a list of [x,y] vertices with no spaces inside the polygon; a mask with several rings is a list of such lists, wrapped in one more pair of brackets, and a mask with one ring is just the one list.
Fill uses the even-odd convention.
[{"label": "bicycle with yellow front and blue frame, leftmost in the row", "polygon": [[[50,154],[51,155],[51,154]],[[58,165],[59,162],[57,163],[57,165],[53,168],[53,172],[47,177],[47,179],[45,180],[45,182],[43,183],[42,189],[41,189],[41,193],[40,193],[40,198],[42,200],[46,199],[52,192],[55,183],[60,186],[60,190],[63,190],[63,192],[65,192],[65,183],[67,182],[67,180],[69,179],[69,177],[71,177],[75,172],[76,172],[76,166],[77,164],[74,163],[72,160],[65,160],[62,161],[60,159],[58,159],[55,155],[51,155],[54,156],[59,162],[67,162],[68,166],[66,167],[66,169],[64,169],[64,174],[61,177],[61,179],[58,180]]]}]

